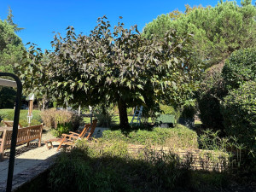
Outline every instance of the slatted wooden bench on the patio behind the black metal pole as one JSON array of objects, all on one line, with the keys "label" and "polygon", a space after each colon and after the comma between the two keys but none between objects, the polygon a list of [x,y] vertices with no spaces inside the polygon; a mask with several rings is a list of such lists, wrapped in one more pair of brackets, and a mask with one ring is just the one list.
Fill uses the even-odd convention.
[{"label": "slatted wooden bench on the patio behind the black metal pole", "polygon": [[[31,141],[38,139],[39,140],[38,147],[40,147],[42,131],[43,131],[43,124],[20,128],[18,129],[16,144],[19,145],[19,144],[27,143],[26,146],[28,146]],[[11,146],[12,134],[13,134],[13,131],[8,131],[8,130],[3,131],[3,138],[0,139],[0,161],[3,160],[4,149],[10,148]]]}]

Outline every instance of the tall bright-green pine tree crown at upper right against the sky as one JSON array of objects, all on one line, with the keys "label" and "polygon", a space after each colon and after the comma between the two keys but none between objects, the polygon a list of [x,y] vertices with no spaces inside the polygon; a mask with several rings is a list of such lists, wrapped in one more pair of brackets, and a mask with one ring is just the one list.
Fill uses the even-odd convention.
[{"label": "tall bright-green pine tree crown at upper right against the sky", "polygon": [[[207,67],[224,61],[236,49],[253,47],[256,44],[256,8],[252,1],[220,1],[215,7],[186,6],[184,13],[175,10],[169,15],[160,15],[148,23],[143,33],[163,37],[170,28],[177,33],[193,33],[191,55],[194,62],[202,61]],[[163,27],[164,26],[164,27]]]}]

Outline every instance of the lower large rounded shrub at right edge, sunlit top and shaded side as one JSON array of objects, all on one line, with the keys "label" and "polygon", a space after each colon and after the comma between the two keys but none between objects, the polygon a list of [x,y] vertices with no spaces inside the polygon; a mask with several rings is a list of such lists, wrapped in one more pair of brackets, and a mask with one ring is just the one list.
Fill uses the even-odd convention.
[{"label": "lower large rounded shrub at right edge, sunlit top and shaded side", "polygon": [[221,112],[225,131],[248,148],[256,148],[256,82],[249,81],[224,97]]}]

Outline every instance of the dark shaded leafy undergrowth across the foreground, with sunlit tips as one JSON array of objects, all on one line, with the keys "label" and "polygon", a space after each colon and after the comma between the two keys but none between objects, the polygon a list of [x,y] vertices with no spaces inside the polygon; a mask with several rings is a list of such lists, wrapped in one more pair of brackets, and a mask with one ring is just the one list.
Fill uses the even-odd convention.
[{"label": "dark shaded leafy undergrowth across the foreground, with sunlit tips", "polygon": [[[226,185],[225,173],[191,170],[190,160],[176,154],[144,149],[128,153],[128,143],[81,141],[69,153],[63,152],[49,173],[52,191],[210,191]],[[203,186],[201,184],[204,184]]]}]

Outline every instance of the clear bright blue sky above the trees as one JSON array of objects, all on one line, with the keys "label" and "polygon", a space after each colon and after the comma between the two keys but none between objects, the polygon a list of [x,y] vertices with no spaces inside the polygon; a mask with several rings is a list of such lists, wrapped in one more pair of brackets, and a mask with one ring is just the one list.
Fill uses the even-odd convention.
[{"label": "clear bright blue sky above the trees", "polygon": [[42,49],[51,49],[53,32],[65,35],[67,26],[74,26],[77,33],[89,34],[96,26],[98,17],[107,15],[112,26],[117,25],[119,16],[127,28],[137,24],[138,30],[158,15],[184,11],[185,4],[212,5],[218,0],[166,0],[166,1],[86,1],[86,0],[1,0],[0,19],[6,19],[8,8],[13,10],[14,22],[25,29],[17,34],[24,44],[32,42]]}]

